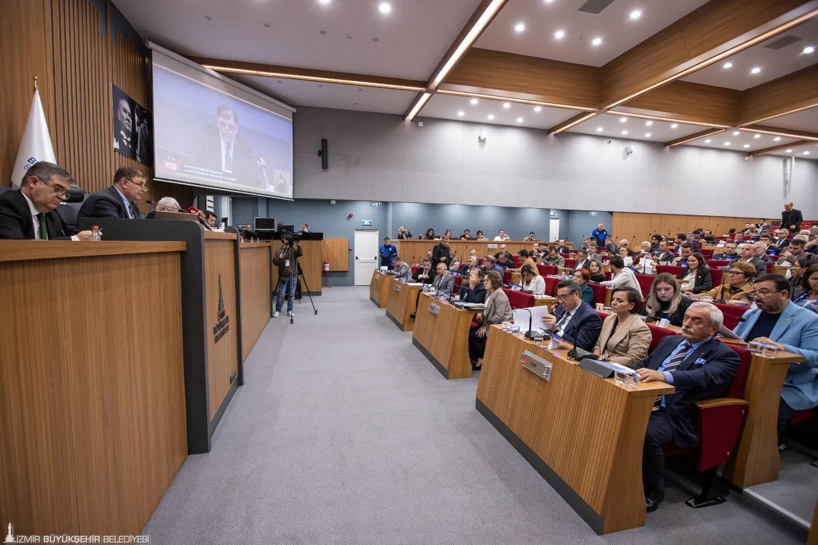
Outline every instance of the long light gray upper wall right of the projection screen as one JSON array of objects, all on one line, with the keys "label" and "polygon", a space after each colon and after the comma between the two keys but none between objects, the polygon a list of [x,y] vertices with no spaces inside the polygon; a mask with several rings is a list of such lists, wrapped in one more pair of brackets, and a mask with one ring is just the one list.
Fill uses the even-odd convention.
[{"label": "long light gray upper wall right of the projection screen", "polygon": [[[544,209],[777,218],[784,200],[818,217],[818,162],[799,160],[784,193],[781,157],[666,149],[582,134],[299,107],[294,116],[297,198],[382,200]],[[330,169],[316,150],[329,140]],[[393,216],[393,221],[399,221]],[[454,227],[452,227],[453,229]]]}]

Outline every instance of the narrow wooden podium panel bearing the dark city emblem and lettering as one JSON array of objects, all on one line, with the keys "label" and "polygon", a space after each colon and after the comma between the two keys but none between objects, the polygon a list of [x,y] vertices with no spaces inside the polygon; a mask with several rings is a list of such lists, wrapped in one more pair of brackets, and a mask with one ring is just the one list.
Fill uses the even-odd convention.
[{"label": "narrow wooden podium panel bearing the dark city emblem and lettering", "polygon": [[[205,232],[205,235],[207,232]],[[211,233],[228,234],[228,233]],[[244,251],[244,250],[243,250]],[[236,328],[236,236],[218,240],[205,236],[205,328],[208,351],[208,394],[210,418],[216,416],[239,373]],[[220,301],[224,305],[227,332],[216,342],[213,328],[219,322]],[[223,331],[222,331],[223,332]],[[235,373],[235,376],[234,376]]]}]

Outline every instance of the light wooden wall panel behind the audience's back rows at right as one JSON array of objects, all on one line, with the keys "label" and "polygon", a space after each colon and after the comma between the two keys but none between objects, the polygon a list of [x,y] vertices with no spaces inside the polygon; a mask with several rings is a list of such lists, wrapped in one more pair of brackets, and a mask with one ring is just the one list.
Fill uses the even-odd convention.
[{"label": "light wooden wall panel behind the audience's back rows at right", "polygon": [[[769,221],[771,218],[767,218]],[[773,218],[775,219],[775,218]],[[641,241],[649,241],[650,236],[676,236],[678,232],[689,233],[696,227],[710,229],[716,235],[730,231],[730,227],[744,227],[744,223],[757,222],[758,218],[730,218],[726,216],[691,216],[685,214],[636,214],[614,212],[609,232],[615,241],[627,238],[631,247],[639,247]]]}]

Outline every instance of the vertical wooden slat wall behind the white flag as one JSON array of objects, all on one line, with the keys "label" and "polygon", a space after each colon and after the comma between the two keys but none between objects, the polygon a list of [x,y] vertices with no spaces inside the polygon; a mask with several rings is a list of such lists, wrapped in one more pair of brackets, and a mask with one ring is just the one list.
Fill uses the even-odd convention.
[{"label": "vertical wooden slat wall behind the white flag", "polygon": [[[106,2],[106,13],[100,14],[88,0],[2,2],[0,68],[15,74],[4,82],[0,101],[0,112],[7,120],[0,131],[2,185],[9,185],[34,75],[39,77],[57,161],[85,191],[109,186],[117,167],[124,164],[152,176],[152,165],[113,149],[111,84],[151,111],[150,54],[135,33],[115,29],[115,9]],[[43,31],[31,34],[30,29]],[[185,207],[192,203],[191,187],[164,182],[151,182],[150,187],[143,197],[143,211],[147,210],[144,200],[163,196],[173,196]]]}]

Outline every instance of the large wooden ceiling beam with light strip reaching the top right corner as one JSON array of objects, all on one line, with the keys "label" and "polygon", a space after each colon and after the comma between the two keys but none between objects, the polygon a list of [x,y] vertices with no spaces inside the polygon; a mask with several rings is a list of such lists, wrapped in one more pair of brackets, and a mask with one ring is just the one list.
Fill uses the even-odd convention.
[{"label": "large wooden ceiling beam with light strip reaching the top right corner", "polygon": [[818,0],[711,0],[602,67],[605,110],[818,15]]}]

